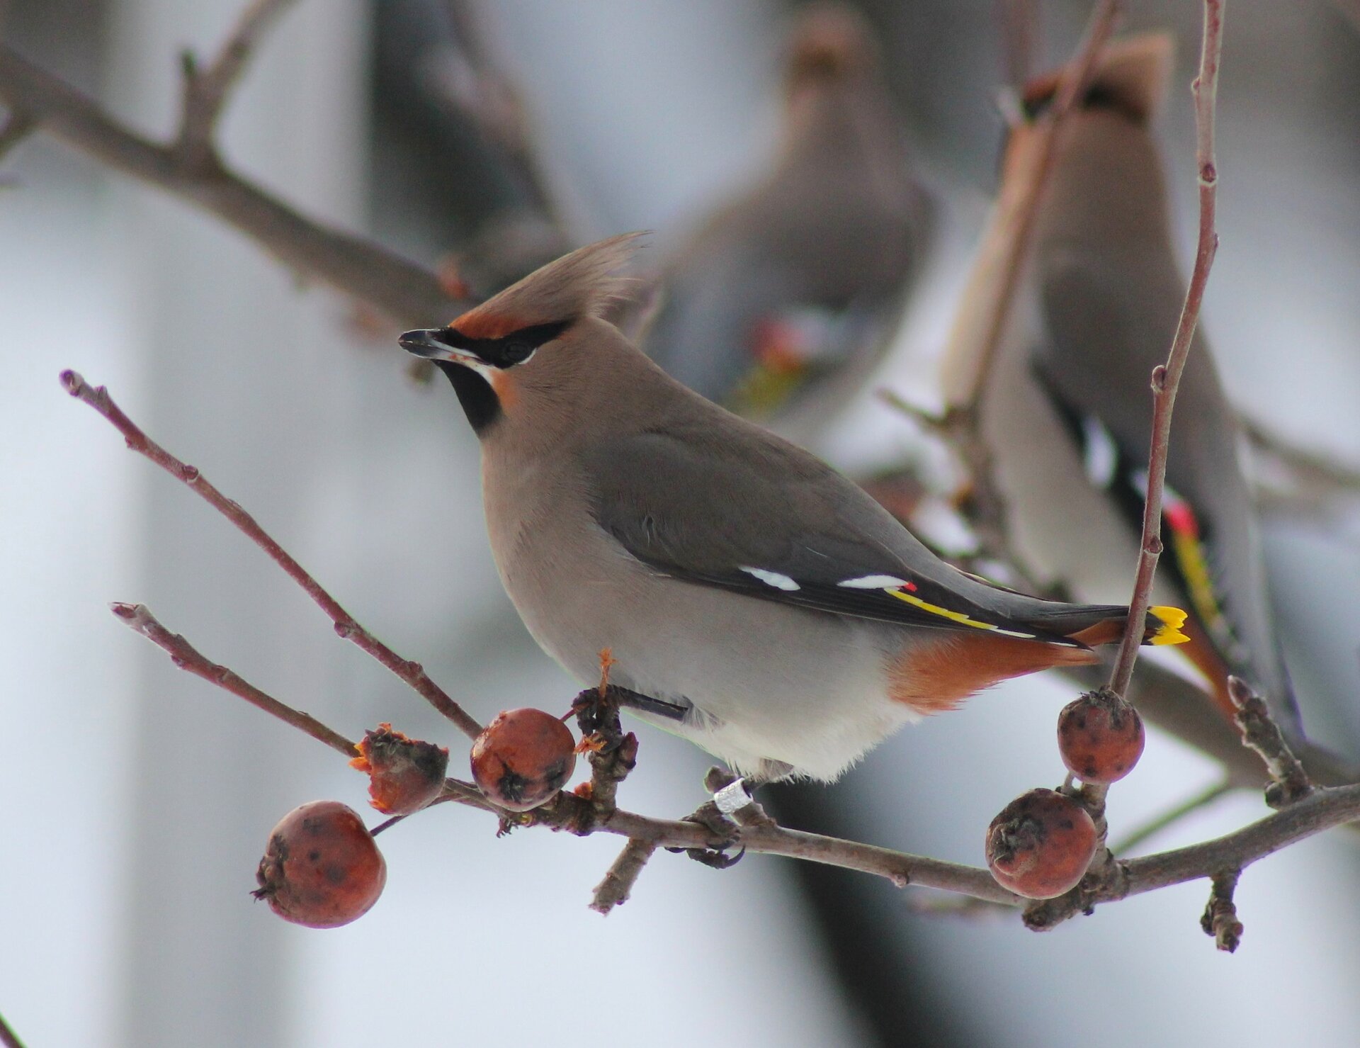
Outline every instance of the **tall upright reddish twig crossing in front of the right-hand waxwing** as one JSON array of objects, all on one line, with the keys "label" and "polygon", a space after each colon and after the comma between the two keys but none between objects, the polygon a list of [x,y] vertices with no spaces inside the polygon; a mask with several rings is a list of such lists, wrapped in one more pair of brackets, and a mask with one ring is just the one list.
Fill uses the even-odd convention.
[{"label": "tall upright reddish twig crossing in front of the right-hand waxwing", "polygon": [[1152,597],[1152,581],[1161,555],[1161,495],[1167,480],[1167,452],[1171,446],[1171,412],[1176,403],[1176,389],[1195,327],[1200,323],[1200,306],[1204,302],[1204,289],[1209,280],[1213,256],[1219,250],[1219,233],[1214,227],[1214,211],[1219,191],[1219,169],[1213,152],[1214,105],[1219,95],[1219,59],[1223,53],[1223,14],[1225,0],[1204,0],[1204,42],[1200,50],[1200,75],[1191,84],[1195,103],[1195,165],[1200,173],[1200,242],[1195,249],[1194,269],[1190,274],[1190,287],[1186,290],[1180,320],[1171,342],[1171,354],[1166,365],[1152,372],[1152,446],[1148,452],[1148,493],[1142,509],[1142,542],[1138,553],[1138,570],[1129,600],[1129,623],[1125,627],[1119,655],[1110,687],[1123,694],[1133,676],[1133,664],[1142,644],[1142,630],[1148,621],[1148,604]]}]

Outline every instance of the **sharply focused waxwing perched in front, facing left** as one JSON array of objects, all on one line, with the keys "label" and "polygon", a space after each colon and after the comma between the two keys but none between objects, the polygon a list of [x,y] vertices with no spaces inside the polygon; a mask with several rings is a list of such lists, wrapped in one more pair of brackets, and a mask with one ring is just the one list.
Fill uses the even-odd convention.
[{"label": "sharply focused waxwing perched in front, facing left", "polygon": [[[481,441],[491,548],[582,683],[756,779],[835,779],[1001,679],[1092,663],[1126,608],[998,589],[831,467],[691,392],[601,320],[636,234],[567,255],[401,344]],[[1182,640],[1156,608],[1148,640]]]}]

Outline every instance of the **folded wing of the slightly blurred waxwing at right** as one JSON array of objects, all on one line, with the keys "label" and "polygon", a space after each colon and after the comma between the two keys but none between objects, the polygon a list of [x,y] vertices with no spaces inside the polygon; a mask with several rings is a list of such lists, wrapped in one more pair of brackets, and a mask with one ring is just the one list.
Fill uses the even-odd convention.
[{"label": "folded wing of the slightly blurred waxwing at right", "polygon": [[[1104,464],[1091,479],[1110,489],[1136,529],[1152,433],[1145,391],[1171,347],[1182,294],[1174,267],[1126,282],[1108,263],[1058,256],[1042,279],[1047,339],[1035,357],[1040,385],[1088,465]],[[1296,725],[1255,510],[1238,459],[1238,421],[1200,336],[1176,397],[1167,486],[1166,566],[1228,666],[1276,698]]]}]

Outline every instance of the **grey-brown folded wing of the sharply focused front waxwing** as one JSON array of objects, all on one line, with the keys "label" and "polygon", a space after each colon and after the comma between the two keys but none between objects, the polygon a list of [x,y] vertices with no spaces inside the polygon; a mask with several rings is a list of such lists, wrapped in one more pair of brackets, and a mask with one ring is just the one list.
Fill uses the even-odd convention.
[{"label": "grey-brown folded wing of the sharply focused front waxwing", "polygon": [[[596,448],[588,471],[597,523],[642,563],[688,583],[851,618],[1080,646],[1057,632],[1065,622],[1034,622],[1065,606],[964,577],[812,456],[772,440],[722,452],[711,429]],[[1013,618],[1006,603],[1036,614]]]}]

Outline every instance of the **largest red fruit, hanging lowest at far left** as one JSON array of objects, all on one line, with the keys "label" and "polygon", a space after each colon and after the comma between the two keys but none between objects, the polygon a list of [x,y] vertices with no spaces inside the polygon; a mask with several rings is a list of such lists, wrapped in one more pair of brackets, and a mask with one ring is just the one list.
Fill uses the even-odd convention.
[{"label": "largest red fruit, hanging lowest at far left", "polygon": [[284,815],[256,871],[260,890],[284,920],[339,928],[378,901],[388,864],[363,819],[339,800],[313,800]]}]

